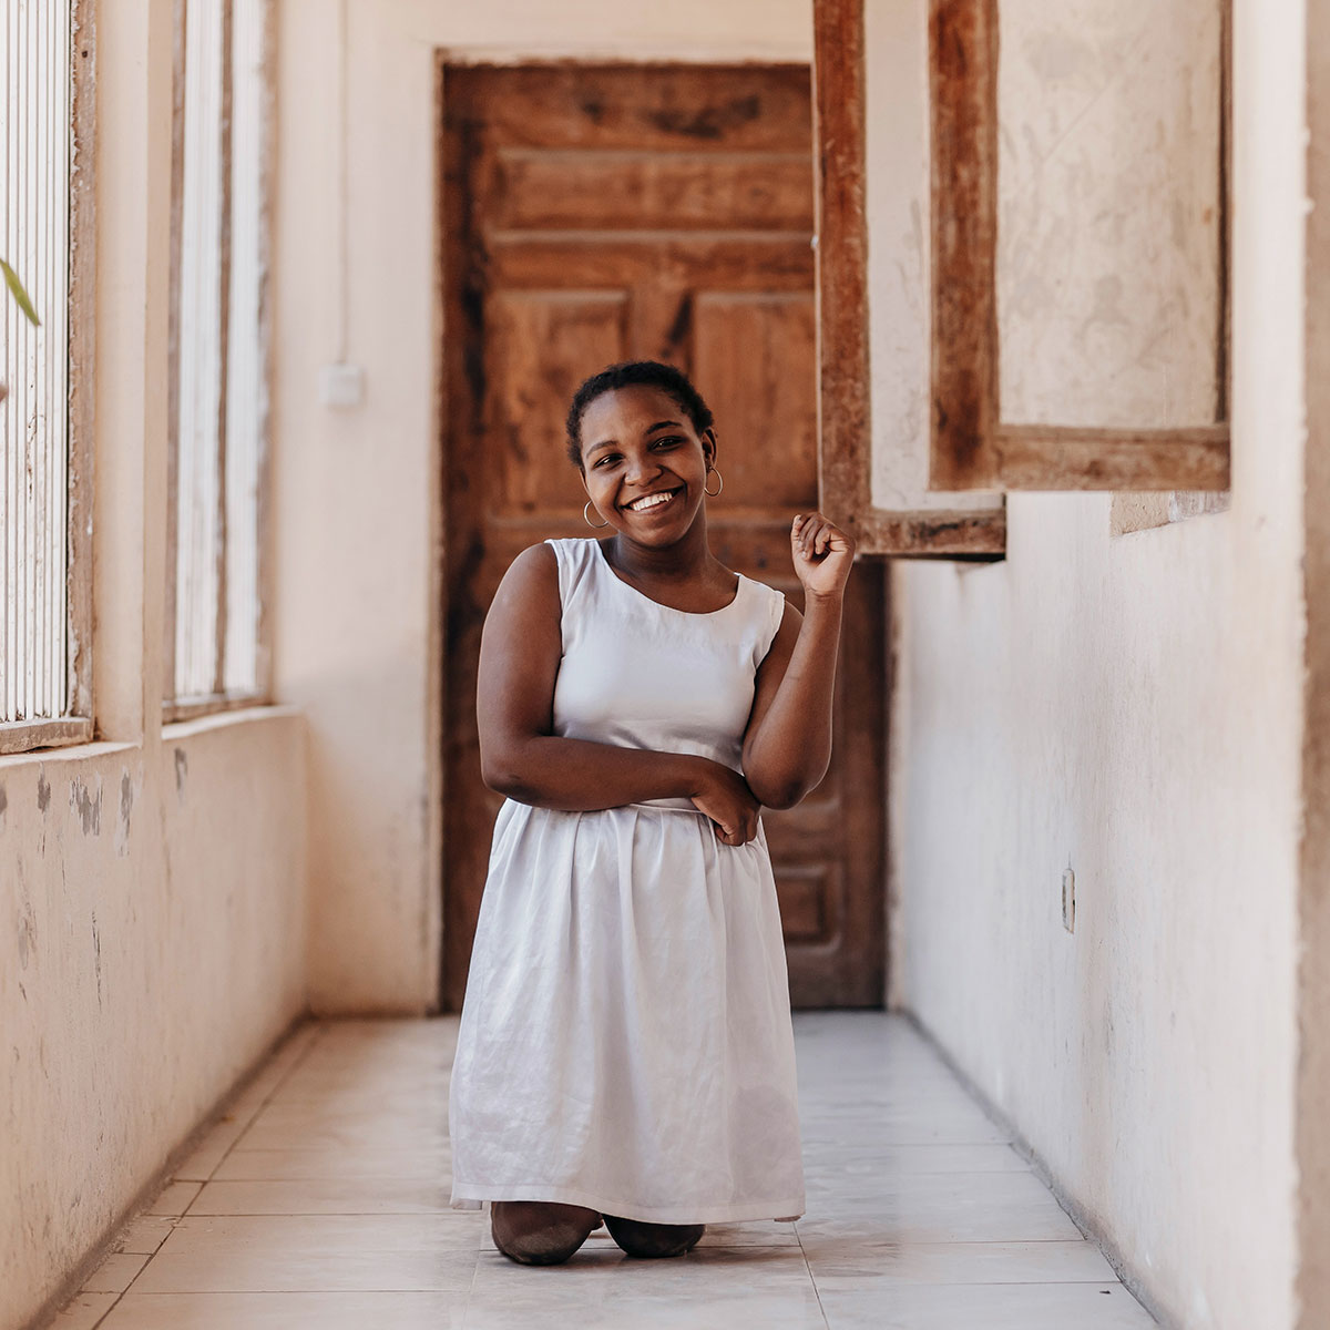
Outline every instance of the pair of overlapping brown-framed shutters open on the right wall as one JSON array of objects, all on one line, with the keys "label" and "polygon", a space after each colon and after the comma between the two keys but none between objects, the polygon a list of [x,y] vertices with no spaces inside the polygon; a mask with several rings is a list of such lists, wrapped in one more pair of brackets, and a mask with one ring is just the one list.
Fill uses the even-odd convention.
[{"label": "pair of overlapping brown-framed shutters open on the right wall", "polygon": [[866,553],[983,559],[1013,489],[1222,507],[1228,0],[814,16],[829,515]]}]

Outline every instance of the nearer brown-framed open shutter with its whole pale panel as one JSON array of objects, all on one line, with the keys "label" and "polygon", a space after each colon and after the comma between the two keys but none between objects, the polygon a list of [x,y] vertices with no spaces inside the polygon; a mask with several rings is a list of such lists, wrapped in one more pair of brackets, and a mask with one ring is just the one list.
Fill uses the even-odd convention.
[{"label": "nearer brown-framed open shutter with its whole pale panel", "polygon": [[930,484],[1228,488],[1226,0],[928,3]]}]

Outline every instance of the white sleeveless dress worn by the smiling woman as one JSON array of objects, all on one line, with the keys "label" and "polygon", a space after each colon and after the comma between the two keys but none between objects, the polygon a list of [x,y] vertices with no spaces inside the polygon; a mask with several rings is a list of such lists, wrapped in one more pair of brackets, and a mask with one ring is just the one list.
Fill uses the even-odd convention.
[{"label": "white sleeveless dress worn by the smiling woman", "polygon": [[[557,734],[739,770],[785,597],[739,576],[660,605],[600,543],[551,540]],[[794,1039],[766,835],[688,799],[595,813],[505,799],[448,1105],[452,1205],[561,1201],[657,1224],[803,1213]]]}]

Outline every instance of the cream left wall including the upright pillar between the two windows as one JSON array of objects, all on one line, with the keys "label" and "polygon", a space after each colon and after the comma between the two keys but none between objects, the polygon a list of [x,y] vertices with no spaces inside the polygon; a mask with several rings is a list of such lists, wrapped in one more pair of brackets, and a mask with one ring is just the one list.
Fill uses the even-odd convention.
[{"label": "cream left wall including the upright pillar between the two windows", "polygon": [[100,7],[93,705],[0,757],[0,1330],[78,1287],[305,1009],[305,730],[161,725],[172,0]]}]

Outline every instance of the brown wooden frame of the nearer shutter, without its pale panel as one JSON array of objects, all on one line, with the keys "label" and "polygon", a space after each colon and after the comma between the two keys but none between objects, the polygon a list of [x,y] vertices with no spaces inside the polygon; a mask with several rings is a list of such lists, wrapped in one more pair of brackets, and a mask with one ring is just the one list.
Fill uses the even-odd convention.
[{"label": "brown wooden frame of the nearer shutter, without its pale panel", "polygon": [[1220,327],[1213,424],[1081,428],[1001,420],[998,399],[1000,0],[930,0],[932,430],[930,489],[1229,488],[1232,9],[1221,5]]}]

